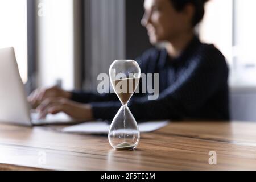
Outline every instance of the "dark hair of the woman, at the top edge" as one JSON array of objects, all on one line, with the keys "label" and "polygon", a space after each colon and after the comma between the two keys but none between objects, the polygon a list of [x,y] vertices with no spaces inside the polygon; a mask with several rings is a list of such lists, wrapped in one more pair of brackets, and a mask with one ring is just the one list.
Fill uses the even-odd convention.
[{"label": "dark hair of the woman, at the top edge", "polygon": [[195,7],[195,14],[192,18],[192,26],[195,27],[204,17],[204,4],[208,0],[170,0],[174,9],[181,11],[186,5],[192,4]]}]

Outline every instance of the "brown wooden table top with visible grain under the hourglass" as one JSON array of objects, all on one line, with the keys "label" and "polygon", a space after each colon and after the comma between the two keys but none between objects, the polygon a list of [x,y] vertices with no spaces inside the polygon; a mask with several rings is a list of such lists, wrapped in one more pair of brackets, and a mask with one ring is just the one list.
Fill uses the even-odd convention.
[{"label": "brown wooden table top with visible grain under the hourglass", "polygon": [[0,169],[256,170],[256,122],[171,122],[141,134],[135,151],[113,150],[106,136],[0,124]]}]

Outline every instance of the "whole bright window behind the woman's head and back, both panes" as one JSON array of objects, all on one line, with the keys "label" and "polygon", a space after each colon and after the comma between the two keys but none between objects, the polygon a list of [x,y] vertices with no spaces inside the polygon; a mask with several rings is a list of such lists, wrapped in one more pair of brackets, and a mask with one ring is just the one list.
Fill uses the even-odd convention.
[{"label": "whole bright window behind the woman's head and back, both panes", "polygon": [[232,87],[256,87],[255,0],[211,0],[205,6],[200,38],[226,57]]}]

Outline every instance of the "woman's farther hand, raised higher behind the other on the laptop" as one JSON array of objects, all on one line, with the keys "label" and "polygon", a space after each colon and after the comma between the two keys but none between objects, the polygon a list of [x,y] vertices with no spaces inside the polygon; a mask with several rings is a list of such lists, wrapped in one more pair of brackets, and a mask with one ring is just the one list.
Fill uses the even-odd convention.
[{"label": "woman's farther hand, raised higher behind the other on the laptop", "polygon": [[28,102],[32,105],[33,108],[36,108],[47,98],[71,98],[71,92],[62,90],[57,86],[51,88],[39,88],[28,96]]}]

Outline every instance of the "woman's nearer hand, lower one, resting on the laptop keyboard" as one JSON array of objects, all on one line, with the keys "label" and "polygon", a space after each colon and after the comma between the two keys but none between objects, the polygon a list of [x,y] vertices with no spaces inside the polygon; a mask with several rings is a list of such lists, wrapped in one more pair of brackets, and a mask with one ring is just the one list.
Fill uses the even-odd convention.
[{"label": "woman's nearer hand, lower one, resting on the laptop keyboard", "polygon": [[74,119],[93,119],[90,104],[80,104],[66,98],[47,98],[36,110],[40,112],[40,119],[45,118],[47,114],[60,112],[64,112]]}]

